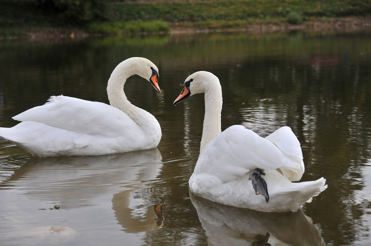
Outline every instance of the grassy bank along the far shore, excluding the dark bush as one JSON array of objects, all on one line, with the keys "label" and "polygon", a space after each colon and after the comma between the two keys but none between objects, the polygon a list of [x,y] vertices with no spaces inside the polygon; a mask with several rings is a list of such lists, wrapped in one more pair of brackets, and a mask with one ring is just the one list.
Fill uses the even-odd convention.
[{"label": "grassy bank along the far shore, excluding the dark bush", "polygon": [[253,25],[298,25],[349,17],[371,17],[370,0],[247,0],[195,2],[106,1],[97,19],[74,22],[45,11],[35,1],[0,1],[0,36],[30,33],[125,35],[172,29],[230,29]]}]

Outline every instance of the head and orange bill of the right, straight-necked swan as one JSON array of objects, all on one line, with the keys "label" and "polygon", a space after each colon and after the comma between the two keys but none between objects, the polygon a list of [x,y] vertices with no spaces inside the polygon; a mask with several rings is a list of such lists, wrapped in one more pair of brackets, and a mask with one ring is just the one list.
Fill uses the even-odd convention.
[{"label": "head and orange bill of the right, straight-necked swan", "polygon": [[221,90],[218,77],[210,72],[198,71],[185,79],[183,90],[173,104],[175,106],[193,94],[207,93],[215,88]]}]

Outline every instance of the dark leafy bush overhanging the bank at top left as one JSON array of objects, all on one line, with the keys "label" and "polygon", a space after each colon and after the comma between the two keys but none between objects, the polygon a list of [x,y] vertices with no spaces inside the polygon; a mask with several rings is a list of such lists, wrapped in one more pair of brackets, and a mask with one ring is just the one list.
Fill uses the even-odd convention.
[{"label": "dark leafy bush overhanging the bank at top left", "polygon": [[37,6],[61,14],[76,23],[102,18],[106,10],[104,0],[36,0]]}]

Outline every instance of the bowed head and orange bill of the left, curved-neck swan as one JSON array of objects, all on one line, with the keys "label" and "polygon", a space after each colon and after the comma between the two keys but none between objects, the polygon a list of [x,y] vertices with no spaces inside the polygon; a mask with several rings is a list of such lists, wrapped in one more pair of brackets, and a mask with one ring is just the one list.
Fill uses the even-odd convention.
[{"label": "bowed head and orange bill of the left, curved-neck swan", "polygon": [[143,57],[131,57],[125,61],[129,63],[132,62],[130,67],[132,68],[133,74],[138,74],[142,78],[149,80],[155,90],[157,90],[158,93],[161,92],[157,82],[159,76],[158,68],[155,64]]}]

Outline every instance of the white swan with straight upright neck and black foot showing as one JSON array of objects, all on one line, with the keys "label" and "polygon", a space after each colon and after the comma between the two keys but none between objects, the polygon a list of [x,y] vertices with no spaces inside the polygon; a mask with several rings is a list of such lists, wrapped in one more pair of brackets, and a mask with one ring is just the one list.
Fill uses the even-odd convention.
[{"label": "white swan with straight upright neck and black foot showing", "polygon": [[189,180],[191,192],[224,205],[283,212],[297,211],[327,188],[323,177],[291,182],[301,179],[304,163],[300,143],[289,127],[266,138],[241,125],[221,132],[219,79],[205,71],[191,74],[174,105],[196,93],[205,94],[205,118],[200,156]]}]

